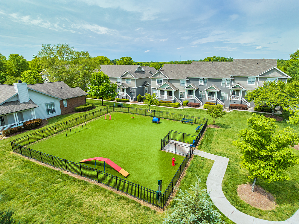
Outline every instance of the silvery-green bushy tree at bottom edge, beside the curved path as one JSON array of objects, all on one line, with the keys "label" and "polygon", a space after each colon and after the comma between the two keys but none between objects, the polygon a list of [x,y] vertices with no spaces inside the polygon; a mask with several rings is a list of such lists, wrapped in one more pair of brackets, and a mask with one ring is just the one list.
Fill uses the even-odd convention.
[{"label": "silvery-green bushy tree at bottom edge, beside the curved path", "polygon": [[176,188],[179,190],[178,197],[173,198],[176,205],[167,211],[163,224],[225,223],[220,213],[213,209],[207,189],[202,189],[197,179],[190,191]]}]

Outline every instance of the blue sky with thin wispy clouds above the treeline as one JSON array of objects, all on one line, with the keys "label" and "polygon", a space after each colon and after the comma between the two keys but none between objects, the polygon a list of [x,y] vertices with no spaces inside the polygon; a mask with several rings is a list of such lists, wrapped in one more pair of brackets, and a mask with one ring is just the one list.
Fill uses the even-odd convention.
[{"label": "blue sky with thin wispy clouds above the treeline", "polygon": [[31,60],[42,44],[68,43],[111,60],[289,59],[298,10],[298,0],[1,1],[0,53]]}]

